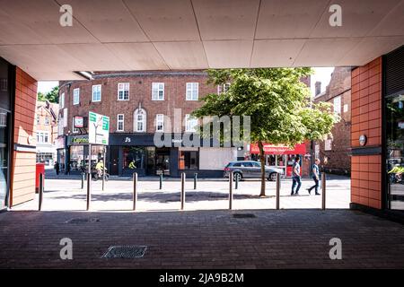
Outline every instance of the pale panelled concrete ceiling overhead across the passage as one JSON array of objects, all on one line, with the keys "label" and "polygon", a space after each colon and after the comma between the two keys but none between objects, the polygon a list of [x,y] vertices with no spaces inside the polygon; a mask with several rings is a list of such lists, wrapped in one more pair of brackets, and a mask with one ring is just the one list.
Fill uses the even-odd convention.
[{"label": "pale panelled concrete ceiling overhead across the passage", "polygon": [[[0,0],[0,57],[73,71],[364,65],[404,44],[404,0]],[[59,24],[61,4],[73,26]]]}]

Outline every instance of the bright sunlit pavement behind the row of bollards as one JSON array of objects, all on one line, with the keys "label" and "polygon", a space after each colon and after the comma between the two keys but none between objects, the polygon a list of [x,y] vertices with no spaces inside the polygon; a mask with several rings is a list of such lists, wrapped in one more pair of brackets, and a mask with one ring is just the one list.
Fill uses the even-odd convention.
[{"label": "bright sunlit pavement behind the row of bollards", "polygon": [[[163,182],[162,190],[156,178],[140,178],[138,183],[138,211],[164,211],[180,209],[180,180],[171,178]],[[290,196],[291,180],[282,180],[280,207],[321,208],[321,196],[309,196],[305,190],[312,186],[312,180],[303,179],[300,196]],[[133,184],[122,178],[106,183],[101,191],[101,181],[92,181],[92,211],[128,211],[132,209]],[[84,185],[85,186],[85,185]],[[220,210],[229,206],[229,183],[224,178],[200,178],[198,187],[193,189],[193,181],[186,183],[186,210]],[[268,198],[260,198],[259,180],[246,180],[234,189],[233,209],[274,209],[276,206],[276,184],[267,181]],[[349,178],[337,177],[327,181],[327,207],[349,208]],[[43,199],[44,211],[85,210],[86,190],[81,189],[81,180],[47,179]],[[37,210],[37,199],[21,204],[14,210]]]}]

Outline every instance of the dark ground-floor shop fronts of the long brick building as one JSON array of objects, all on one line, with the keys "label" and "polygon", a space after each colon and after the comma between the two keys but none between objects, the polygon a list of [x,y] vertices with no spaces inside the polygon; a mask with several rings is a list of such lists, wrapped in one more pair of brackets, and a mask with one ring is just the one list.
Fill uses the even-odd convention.
[{"label": "dark ground-floor shop fronts of the long brick building", "polygon": [[[106,147],[106,167],[111,176],[188,177],[198,173],[200,177],[223,177],[224,166],[237,159],[236,148],[186,147],[173,138],[170,146],[154,145],[153,134],[110,134],[110,145]],[[68,173],[80,173],[88,161],[88,136],[68,135],[66,152],[58,150],[59,156],[66,156]],[[103,157],[104,147],[92,145],[92,163]],[[63,160],[61,160],[63,161]]]}]

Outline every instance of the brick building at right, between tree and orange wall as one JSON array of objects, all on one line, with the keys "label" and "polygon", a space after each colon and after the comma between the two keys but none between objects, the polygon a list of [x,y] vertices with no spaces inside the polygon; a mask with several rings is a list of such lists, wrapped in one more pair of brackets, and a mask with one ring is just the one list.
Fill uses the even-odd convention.
[{"label": "brick building at right, between tree and orange wall", "polygon": [[314,102],[329,102],[340,121],[336,124],[328,139],[312,143],[312,156],[321,159],[323,169],[328,173],[350,174],[351,170],[351,68],[336,67],[326,91],[321,91],[317,82]]}]

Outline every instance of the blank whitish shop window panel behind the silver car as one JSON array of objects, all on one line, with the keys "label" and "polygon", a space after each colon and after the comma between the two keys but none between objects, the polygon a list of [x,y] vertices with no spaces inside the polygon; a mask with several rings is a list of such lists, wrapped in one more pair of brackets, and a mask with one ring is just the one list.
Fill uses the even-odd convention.
[{"label": "blank whitish shop window panel behind the silver car", "polygon": [[223,170],[229,161],[236,160],[236,148],[201,147],[199,151],[199,170]]}]

